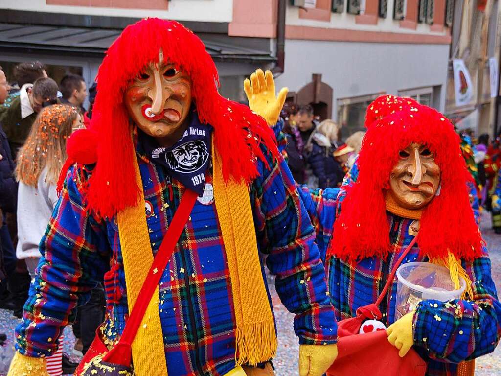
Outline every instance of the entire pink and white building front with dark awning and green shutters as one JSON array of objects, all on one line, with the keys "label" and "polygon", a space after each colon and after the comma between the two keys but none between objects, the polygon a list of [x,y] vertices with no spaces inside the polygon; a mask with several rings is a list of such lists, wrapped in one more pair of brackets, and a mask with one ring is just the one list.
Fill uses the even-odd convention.
[{"label": "entire pink and white building front with dark awning and green shutters", "polygon": [[[406,95],[444,110],[452,0],[3,0],[0,64],[41,60],[56,81],[90,85],[104,51],[143,17],[183,22],[205,42],[221,94],[273,69],[290,101],[312,104],[348,136],[378,95]],[[285,48],[284,48],[285,44]],[[285,63],[284,63],[285,53]]]}]

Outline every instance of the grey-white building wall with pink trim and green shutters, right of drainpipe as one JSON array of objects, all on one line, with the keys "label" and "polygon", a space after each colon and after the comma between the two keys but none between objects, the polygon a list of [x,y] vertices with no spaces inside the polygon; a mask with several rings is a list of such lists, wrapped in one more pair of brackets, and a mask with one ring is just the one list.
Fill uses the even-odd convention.
[{"label": "grey-white building wall with pink trim and green shutters, right of drainpipe", "polygon": [[[287,9],[285,73],[278,82],[298,93],[294,100],[337,120],[343,138],[363,129],[367,105],[384,93],[444,109],[446,0],[307,0],[307,8],[295,3],[302,2]],[[315,96],[312,86],[331,95]]]}]

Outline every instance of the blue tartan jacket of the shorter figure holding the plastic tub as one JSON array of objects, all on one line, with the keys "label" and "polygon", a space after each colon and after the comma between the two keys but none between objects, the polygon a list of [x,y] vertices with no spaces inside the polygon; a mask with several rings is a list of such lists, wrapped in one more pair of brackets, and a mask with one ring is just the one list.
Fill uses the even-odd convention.
[{"label": "blue tartan jacket of the shorter figure holding the plastic tub", "polygon": [[[350,174],[345,183],[356,180],[356,166]],[[335,256],[326,257],[326,251],[329,242],[336,241],[332,228],[346,192],[342,188],[310,191],[306,186],[299,192],[316,228],[336,319],[353,317],[357,308],[376,301],[396,261],[414,238],[410,231],[414,221],[387,212],[394,252],[386,260],[371,257],[358,263],[345,262]],[[420,255],[418,244],[402,263],[415,261],[428,261]],[[487,250],[473,262],[463,260],[462,266],[472,281],[472,299],[446,303],[424,300],[414,315],[414,348],[427,362],[429,376],[456,375],[458,362],[492,352],[501,336],[501,303],[491,278]],[[395,278],[379,306],[386,326],[395,321],[396,293]]]}]

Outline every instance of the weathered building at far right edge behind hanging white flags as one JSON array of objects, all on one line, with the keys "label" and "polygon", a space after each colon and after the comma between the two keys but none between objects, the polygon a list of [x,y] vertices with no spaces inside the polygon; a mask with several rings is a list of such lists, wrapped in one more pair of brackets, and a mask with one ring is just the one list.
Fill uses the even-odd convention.
[{"label": "weathered building at far right edge behind hanging white flags", "polygon": [[[482,133],[493,136],[501,129],[499,25],[498,0],[455,1],[445,112],[458,129],[471,130],[476,136]],[[455,59],[464,62],[471,84],[469,100],[461,103],[456,102],[457,87],[454,88]],[[461,85],[464,87],[465,82]]]}]

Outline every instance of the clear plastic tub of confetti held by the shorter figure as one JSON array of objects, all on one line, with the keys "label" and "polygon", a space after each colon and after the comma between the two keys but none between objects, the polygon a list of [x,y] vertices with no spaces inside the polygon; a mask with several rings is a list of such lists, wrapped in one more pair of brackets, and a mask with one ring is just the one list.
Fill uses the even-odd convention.
[{"label": "clear plastic tub of confetti held by the shorter figure", "polygon": [[397,269],[397,301],[395,320],[414,310],[421,300],[446,302],[459,299],[466,282],[459,277],[459,289],[454,289],[449,270],[429,262],[409,262]]}]

